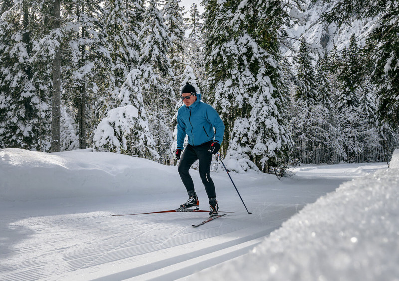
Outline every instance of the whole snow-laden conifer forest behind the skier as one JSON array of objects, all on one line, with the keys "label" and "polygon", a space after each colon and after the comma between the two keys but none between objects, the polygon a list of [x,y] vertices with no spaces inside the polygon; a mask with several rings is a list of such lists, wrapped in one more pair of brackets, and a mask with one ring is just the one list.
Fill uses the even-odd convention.
[{"label": "whole snow-laden conifer forest behind the skier", "polygon": [[0,9],[0,148],[174,165],[186,82],[222,118],[220,153],[237,172],[384,162],[399,147],[399,0]]}]

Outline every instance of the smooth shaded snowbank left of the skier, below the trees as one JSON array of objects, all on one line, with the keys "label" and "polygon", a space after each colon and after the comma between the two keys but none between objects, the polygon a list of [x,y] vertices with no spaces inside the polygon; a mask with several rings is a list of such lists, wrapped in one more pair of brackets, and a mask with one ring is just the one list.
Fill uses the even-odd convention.
[{"label": "smooth shaded snowbank left of the skier, below the trees", "polygon": [[182,189],[176,167],[92,149],[59,153],[0,149],[0,201],[124,194]]}]

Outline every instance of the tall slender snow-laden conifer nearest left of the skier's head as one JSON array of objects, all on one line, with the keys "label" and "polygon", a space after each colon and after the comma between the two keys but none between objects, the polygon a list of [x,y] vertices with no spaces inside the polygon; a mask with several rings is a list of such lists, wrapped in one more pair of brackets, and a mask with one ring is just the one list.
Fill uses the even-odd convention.
[{"label": "tall slender snow-laden conifer nearest left of the skier's head", "polygon": [[175,92],[170,81],[174,79],[168,50],[173,47],[155,0],[150,0],[144,14],[139,34],[141,43],[139,69],[144,103],[149,111],[150,130],[156,142],[161,163],[172,160],[170,146],[173,142],[168,120],[172,119],[176,104]]}]

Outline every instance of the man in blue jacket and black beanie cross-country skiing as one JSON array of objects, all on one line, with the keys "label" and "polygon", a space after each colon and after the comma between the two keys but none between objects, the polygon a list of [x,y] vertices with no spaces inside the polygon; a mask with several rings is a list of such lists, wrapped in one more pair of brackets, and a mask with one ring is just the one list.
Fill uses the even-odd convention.
[{"label": "man in blue jacket and black beanie cross-country skiing", "polygon": [[[195,161],[200,162],[200,177],[209,198],[210,216],[218,215],[219,206],[216,200],[215,185],[210,178],[210,164],[212,155],[220,149],[223,141],[224,124],[216,110],[201,101],[201,94],[186,83],[182,89],[181,97],[184,105],[178,110],[177,149],[175,156],[179,160],[178,172],[189,199],[180,205],[181,208],[199,206],[197,194],[194,190],[193,180],[189,169]],[[183,151],[184,139],[188,136],[188,145]]]}]

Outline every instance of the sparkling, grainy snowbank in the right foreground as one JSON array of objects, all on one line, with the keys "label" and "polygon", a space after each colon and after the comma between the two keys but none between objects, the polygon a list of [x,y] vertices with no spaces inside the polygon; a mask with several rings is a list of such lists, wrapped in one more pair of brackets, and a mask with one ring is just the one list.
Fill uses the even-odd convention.
[{"label": "sparkling, grainy snowbank in the right foreground", "polygon": [[342,184],[200,280],[399,280],[399,150],[390,166]]}]

